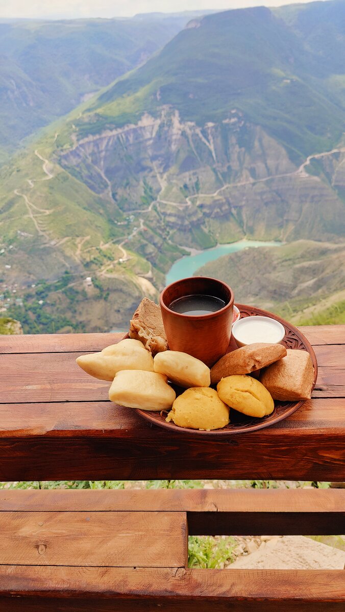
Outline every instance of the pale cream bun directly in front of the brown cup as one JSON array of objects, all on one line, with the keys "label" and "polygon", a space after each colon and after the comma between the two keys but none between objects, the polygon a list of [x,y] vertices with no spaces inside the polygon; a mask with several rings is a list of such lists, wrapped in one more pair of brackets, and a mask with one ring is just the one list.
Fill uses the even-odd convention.
[{"label": "pale cream bun directly in front of the brown cup", "polygon": [[180,351],[157,353],[153,360],[155,372],[165,374],[172,383],[188,387],[209,387],[210,368],[200,359]]}]

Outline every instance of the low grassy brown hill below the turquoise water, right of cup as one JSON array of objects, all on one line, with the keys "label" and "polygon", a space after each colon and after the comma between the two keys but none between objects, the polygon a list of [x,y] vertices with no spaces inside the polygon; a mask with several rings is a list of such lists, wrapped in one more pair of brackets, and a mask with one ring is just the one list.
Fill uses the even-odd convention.
[{"label": "low grassy brown hill below the turquoise water, right of cup", "polygon": [[344,323],[345,245],[301,240],[225,255],[197,274],[224,280],[237,302],[297,324]]}]

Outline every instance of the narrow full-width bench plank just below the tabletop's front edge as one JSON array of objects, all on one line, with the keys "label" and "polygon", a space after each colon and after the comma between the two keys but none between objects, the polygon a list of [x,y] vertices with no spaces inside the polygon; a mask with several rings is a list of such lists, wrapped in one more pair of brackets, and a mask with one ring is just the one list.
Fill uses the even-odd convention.
[{"label": "narrow full-width bench plank just below the tabletop's front edge", "polygon": [[0,512],[345,513],[341,489],[0,489]]}]

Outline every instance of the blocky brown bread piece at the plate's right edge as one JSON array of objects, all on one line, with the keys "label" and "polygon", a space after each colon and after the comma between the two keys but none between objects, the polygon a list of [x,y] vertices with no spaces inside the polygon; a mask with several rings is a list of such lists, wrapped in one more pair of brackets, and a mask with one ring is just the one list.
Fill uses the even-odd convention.
[{"label": "blocky brown bread piece at the plate's right edge", "polygon": [[260,382],[273,400],[309,400],[314,381],[314,368],[309,353],[287,349],[286,357],[262,371]]}]

